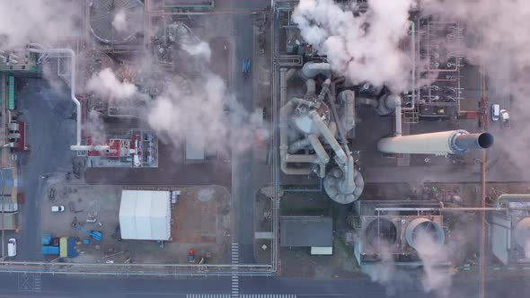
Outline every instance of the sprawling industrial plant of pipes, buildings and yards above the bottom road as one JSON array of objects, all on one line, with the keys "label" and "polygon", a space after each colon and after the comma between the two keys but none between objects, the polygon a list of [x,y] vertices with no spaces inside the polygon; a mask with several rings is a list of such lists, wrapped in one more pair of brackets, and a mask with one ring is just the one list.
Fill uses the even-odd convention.
[{"label": "sprawling industrial plant of pipes, buildings and yards above the bottom road", "polygon": [[473,32],[413,5],[396,89],[345,74],[298,1],[264,2],[77,1],[67,37],[0,34],[1,271],[530,268],[525,116],[440,46]]}]

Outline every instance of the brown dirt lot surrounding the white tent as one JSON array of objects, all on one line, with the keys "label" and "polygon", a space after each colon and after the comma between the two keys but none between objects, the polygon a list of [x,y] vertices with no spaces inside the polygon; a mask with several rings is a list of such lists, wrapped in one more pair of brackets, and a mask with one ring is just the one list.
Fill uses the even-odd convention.
[{"label": "brown dirt lot surrounding the white tent", "polygon": [[[55,189],[54,199],[50,199],[49,189]],[[164,242],[163,246],[156,241],[117,241],[112,237],[119,224],[122,189],[121,186],[89,186],[49,180],[47,197],[41,206],[41,232],[52,233],[53,237],[90,240],[89,244],[78,245],[78,257],[62,261],[181,264],[188,261],[188,252],[193,248],[196,259],[204,256],[208,257],[208,263],[221,262],[230,243],[230,237],[226,235],[232,229],[230,194],[225,188],[159,188],[181,190],[181,197],[172,209],[172,241]],[[66,210],[52,213],[51,206],[65,206]],[[84,232],[75,230],[72,227],[74,219],[86,230],[102,232],[102,241],[94,241]],[[45,257],[57,261],[57,256]]]}]

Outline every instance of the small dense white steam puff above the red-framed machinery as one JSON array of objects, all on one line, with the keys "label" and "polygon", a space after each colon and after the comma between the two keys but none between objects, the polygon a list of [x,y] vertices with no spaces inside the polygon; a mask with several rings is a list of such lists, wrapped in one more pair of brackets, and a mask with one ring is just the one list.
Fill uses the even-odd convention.
[{"label": "small dense white steam puff above the red-framed machinery", "polygon": [[93,74],[86,83],[86,90],[106,100],[126,100],[137,94],[137,86],[128,82],[119,82],[110,68]]}]

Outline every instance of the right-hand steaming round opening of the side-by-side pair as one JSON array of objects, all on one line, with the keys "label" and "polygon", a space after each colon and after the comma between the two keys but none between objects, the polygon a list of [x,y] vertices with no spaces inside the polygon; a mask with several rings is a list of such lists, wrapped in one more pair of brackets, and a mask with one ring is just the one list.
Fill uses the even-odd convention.
[{"label": "right-hand steaming round opening of the side-by-side pair", "polygon": [[414,250],[429,254],[436,252],[444,245],[446,234],[438,223],[420,217],[407,225],[405,239]]}]

